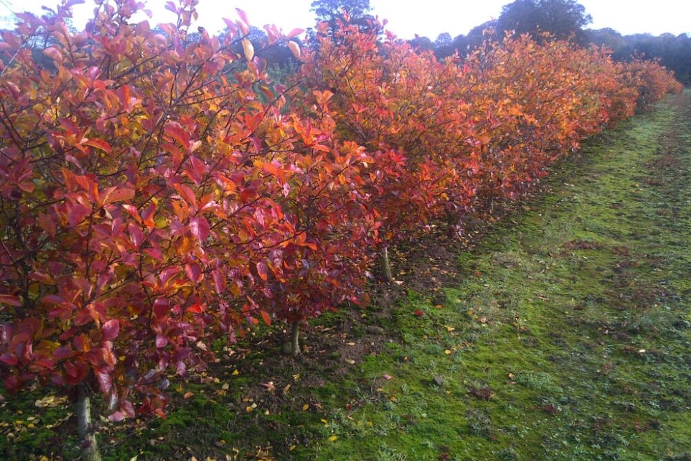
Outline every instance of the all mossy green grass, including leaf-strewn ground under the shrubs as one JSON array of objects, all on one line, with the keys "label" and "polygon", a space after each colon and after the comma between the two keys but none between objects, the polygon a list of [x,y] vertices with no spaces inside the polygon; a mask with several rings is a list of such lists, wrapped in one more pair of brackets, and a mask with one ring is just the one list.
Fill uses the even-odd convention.
[{"label": "all mossy green grass, including leaf-strewn ground under the shrubs", "polygon": [[[349,373],[285,359],[262,377],[282,395],[269,405],[243,363],[272,350],[223,362],[173,390],[166,420],[106,424],[104,458],[691,460],[690,107],[668,100],[560,163],[549,193],[457,255],[441,308],[409,290],[390,316],[363,312],[397,338]],[[41,397],[1,404],[5,458],[77,453],[55,429],[70,407]]]}]

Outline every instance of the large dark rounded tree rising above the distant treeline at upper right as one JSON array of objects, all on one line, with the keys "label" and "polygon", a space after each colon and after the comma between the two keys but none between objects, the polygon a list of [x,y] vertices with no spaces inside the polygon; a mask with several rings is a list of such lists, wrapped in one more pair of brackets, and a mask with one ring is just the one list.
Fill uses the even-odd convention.
[{"label": "large dark rounded tree rising above the distant treeline at upper right", "polygon": [[584,42],[583,28],[591,22],[592,17],[576,0],[515,0],[502,9],[497,29],[533,36],[550,32],[558,39],[574,36]]}]

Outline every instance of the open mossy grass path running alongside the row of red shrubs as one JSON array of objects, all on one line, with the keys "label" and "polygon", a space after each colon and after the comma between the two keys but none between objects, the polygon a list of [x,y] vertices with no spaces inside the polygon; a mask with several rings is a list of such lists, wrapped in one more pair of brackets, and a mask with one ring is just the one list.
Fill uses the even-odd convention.
[{"label": "open mossy grass path running alongside the row of red shrubs", "polygon": [[409,293],[361,366],[383,398],[305,459],[691,460],[691,94],[549,185],[458,256],[441,309]]}]

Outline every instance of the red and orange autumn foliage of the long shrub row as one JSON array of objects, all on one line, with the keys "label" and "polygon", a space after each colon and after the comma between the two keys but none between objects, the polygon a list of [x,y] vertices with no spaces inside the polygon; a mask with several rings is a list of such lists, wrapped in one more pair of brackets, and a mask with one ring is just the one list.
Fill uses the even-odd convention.
[{"label": "red and orange autumn foliage of the long shrub row", "polygon": [[194,0],[162,32],[134,0],[98,3],[81,32],[64,7],[2,34],[0,377],[98,389],[113,420],[162,415],[214,339],[362,301],[382,247],[524,196],[681,91],[567,41],[489,37],[439,62],[348,18],[312,50],[267,27],[303,62],[285,88],[242,13],[191,39]]}]

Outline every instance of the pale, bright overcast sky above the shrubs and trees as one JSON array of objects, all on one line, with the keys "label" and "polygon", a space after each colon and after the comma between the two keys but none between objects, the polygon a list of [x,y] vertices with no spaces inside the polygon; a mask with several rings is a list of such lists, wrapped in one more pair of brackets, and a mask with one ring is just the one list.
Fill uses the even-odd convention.
[{"label": "pale, bright overcast sky above the shrubs and trees", "polygon": [[[13,10],[40,12],[41,6],[54,7],[59,0],[0,0],[0,16]],[[442,32],[452,37],[496,18],[511,0],[370,0],[373,14],[388,19],[388,29],[401,38],[415,34],[435,39]],[[177,3],[177,1],[175,2]],[[274,23],[286,32],[314,24],[312,0],[200,0],[199,25],[208,30],[224,27],[223,17],[236,19],[234,8],[247,12],[250,23],[261,27]],[[650,32],[659,35],[691,33],[691,0],[580,0],[593,17],[591,28],[610,27],[623,34]],[[153,10],[152,23],[171,21],[164,0],[148,0]],[[93,0],[74,7],[75,26],[82,27],[93,12]]]}]

